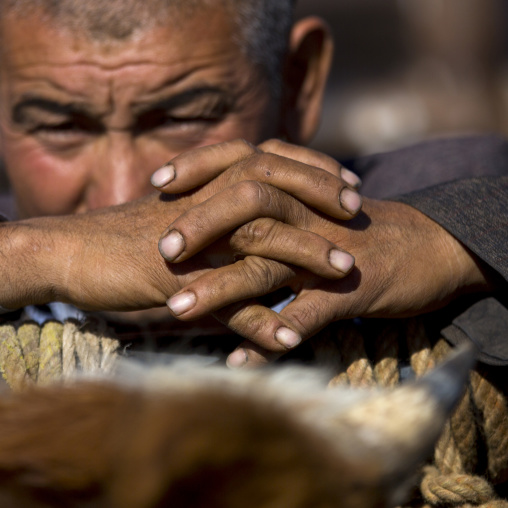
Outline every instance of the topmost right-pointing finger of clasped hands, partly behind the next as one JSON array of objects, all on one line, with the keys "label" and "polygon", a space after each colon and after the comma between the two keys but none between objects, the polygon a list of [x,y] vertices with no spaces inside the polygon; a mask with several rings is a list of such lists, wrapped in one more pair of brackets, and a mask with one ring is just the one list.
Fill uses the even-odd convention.
[{"label": "topmost right-pointing finger of clasped hands, partly behind the next", "polygon": [[358,189],[362,184],[361,179],[355,173],[342,166],[333,157],[318,152],[317,150],[291,145],[279,139],[269,139],[261,143],[259,148],[263,152],[273,153],[282,157],[287,157],[288,159],[295,159],[308,166],[324,169],[332,175],[342,178],[342,180],[355,189]]}]

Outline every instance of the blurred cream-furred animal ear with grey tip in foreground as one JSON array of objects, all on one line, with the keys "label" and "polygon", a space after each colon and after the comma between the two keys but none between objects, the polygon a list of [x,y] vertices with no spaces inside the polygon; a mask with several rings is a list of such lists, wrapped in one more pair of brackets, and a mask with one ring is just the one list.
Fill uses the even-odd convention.
[{"label": "blurred cream-furred animal ear with grey tip in foreground", "polygon": [[457,348],[428,375],[374,392],[334,422],[341,455],[363,472],[367,486],[381,487],[379,495],[388,506],[405,501],[418,467],[431,456],[462,397],[474,353],[470,346]]}]

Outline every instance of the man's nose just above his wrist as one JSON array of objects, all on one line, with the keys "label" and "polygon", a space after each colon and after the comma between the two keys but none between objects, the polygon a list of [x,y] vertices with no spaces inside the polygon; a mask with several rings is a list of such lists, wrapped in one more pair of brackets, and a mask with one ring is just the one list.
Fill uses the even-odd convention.
[{"label": "man's nose just above his wrist", "polygon": [[143,156],[135,138],[112,132],[93,149],[83,211],[119,205],[153,192],[150,176],[157,162]]}]

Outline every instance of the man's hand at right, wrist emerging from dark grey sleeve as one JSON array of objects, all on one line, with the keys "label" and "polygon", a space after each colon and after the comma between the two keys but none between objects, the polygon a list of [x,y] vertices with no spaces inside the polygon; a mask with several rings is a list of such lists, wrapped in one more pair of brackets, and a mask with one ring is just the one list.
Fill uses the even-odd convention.
[{"label": "man's hand at right, wrist emerging from dark grey sleeve", "polygon": [[[355,268],[348,277],[335,281],[295,270],[286,283],[297,297],[278,316],[259,307],[240,306],[237,313],[231,313],[228,325],[252,339],[232,354],[235,365],[255,365],[284,353],[287,349],[276,338],[283,326],[305,339],[335,320],[416,315],[445,305],[457,294],[490,289],[474,256],[438,224],[407,205],[364,199],[363,212],[349,222],[307,211],[311,215],[306,217],[306,226],[352,253]],[[200,213],[208,213],[206,206]],[[186,216],[177,220],[180,231],[187,231],[186,221]],[[236,235],[240,241],[249,238],[252,227],[247,224],[238,229],[232,242]],[[207,242],[196,236],[191,242],[195,251],[198,240]],[[195,305],[179,318],[194,319],[219,308],[223,300],[218,289],[226,284],[229,294],[237,294],[238,300],[268,288],[266,274],[242,279],[240,269],[243,267],[224,267],[185,287],[180,294],[193,293]]]}]

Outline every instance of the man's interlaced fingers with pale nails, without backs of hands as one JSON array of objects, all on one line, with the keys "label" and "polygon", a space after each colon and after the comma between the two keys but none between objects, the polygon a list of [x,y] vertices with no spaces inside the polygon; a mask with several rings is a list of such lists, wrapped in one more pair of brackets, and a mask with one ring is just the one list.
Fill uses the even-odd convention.
[{"label": "man's interlaced fingers with pale nails, without backs of hands", "polygon": [[[280,355],[327,324],[315,289],[354,265],[353,256],[326,237],[327,227],[360,211],[356,175],[306,148],[233,141],[176,157],[152,182],[172,194],[205,183],[214,192],[169,226],[159,249],[178,263],[211,246],[215,269],[186,284],[168,307],[182,320],[213,313],[248,337],[230,365]],[[296,297],[280,314],[256,301],[283,286]]]}]

